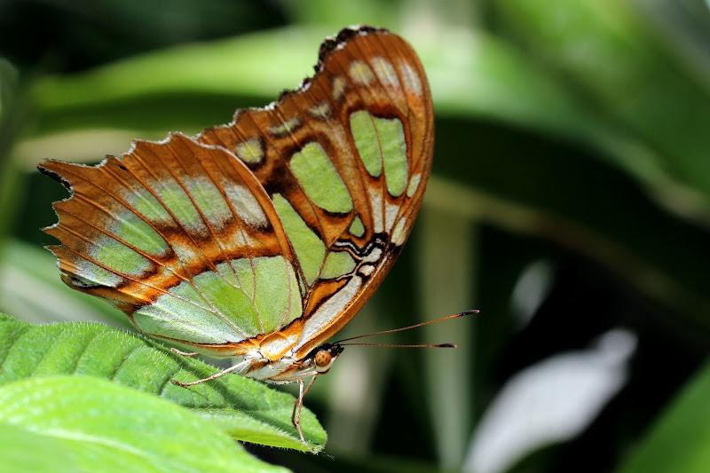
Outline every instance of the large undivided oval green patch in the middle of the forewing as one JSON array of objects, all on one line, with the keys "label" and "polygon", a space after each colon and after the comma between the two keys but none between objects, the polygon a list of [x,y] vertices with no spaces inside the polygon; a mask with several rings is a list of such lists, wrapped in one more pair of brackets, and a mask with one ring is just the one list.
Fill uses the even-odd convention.
[{"label": "large undivided oval green patch in the middle of the forewing", "polygon": [[319,143],[304,146],[291,157],[290,166],[308,198],[320,209],[339,213],[351,211],[350,192]]}]

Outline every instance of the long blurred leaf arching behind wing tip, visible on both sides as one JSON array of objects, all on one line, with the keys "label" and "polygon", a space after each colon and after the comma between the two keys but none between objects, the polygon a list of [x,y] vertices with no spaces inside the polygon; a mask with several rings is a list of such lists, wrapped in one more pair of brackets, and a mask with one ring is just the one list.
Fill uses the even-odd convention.
[{"label": "long blurred leaf arching behind wing tip, visible on both sides", "polygon": [[[273,100],[278,91],[312,75],[319,43],[335,32],[284,28],[47,77],[33,88],[41,114],[38,130],[164,130],[178,123],[201,129],[226,122],[245,97]],[[435,28],[424,35],[398,33],[422,56],[438,113],[495,116],[578,137],[594,131],[589,129],[593,118],[554,76],[493,36],[455,28]],[[177,106],[170,105],[176,99]],[[265,105],[255,99],[248,102]]]}]

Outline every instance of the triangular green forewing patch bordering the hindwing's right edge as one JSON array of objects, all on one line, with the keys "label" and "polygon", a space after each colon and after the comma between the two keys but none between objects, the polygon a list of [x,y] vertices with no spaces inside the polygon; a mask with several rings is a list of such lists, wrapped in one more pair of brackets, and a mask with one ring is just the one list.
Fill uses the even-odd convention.
[{"label": "triangular green forewing patch bordering the hindwing's right edge", "polygon": [[273,194],[272,201],[288,235],[288,240],[291,241],[291,245],[296,251],[296,258],[304,272],[306,283],[311,286],[318,277],[320,264],[323,263],[323,258],[326,256],[326,245],[305,224],[304,219],[281,194]]}]

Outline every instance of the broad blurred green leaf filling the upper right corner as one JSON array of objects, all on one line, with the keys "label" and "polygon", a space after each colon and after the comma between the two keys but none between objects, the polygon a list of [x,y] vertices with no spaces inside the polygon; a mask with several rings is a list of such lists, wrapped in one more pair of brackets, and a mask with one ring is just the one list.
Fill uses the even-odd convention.
[{"label": "broad blurred green leaf filling the upper right corner", "polygon": [[710,78],[674,53],[633,3],[494,4],[511,35],[566,82],[580,103],[629,142],[651,150],[669,180],[702,194],[707,209]]}]

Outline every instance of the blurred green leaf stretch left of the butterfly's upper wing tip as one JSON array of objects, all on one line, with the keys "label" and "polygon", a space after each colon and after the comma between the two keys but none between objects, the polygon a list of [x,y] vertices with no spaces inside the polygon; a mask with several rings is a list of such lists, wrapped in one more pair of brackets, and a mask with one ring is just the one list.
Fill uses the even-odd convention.
[{"label": "blurred green leaf stretch left of the butterfly's upper wing tip", "polygon": [[[81,74],[46,77],[33,88],[43,117],[39,130],[161,130],[176,123],[199,130],[227,122],[239,105],[235,97],[276,99],[312,74],[328,33],[319,31],[286,28],[186,44]],[[183,101],[170,106],[176,97]]]}]

